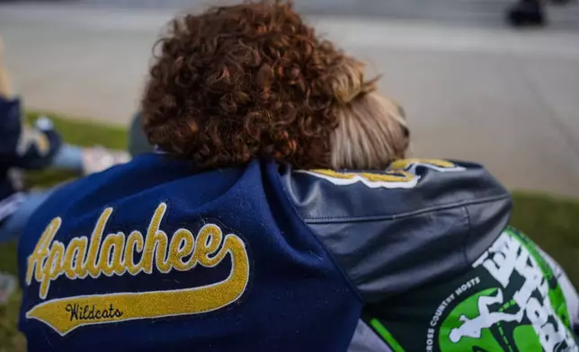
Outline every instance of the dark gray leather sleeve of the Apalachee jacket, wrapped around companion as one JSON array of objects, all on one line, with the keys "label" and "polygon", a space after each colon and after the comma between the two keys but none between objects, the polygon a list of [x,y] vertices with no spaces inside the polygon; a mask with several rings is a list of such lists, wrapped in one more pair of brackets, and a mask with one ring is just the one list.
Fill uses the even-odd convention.
[{"label": "dark gray leather sleeve of the Apalachee jacket, wrapped around companion", "polygon": [[463,166],[415,168],[420,180],[409,189],[283,177],[306,224],[372,304],[464,272],[503,231],[510,195],[481,167]]}]

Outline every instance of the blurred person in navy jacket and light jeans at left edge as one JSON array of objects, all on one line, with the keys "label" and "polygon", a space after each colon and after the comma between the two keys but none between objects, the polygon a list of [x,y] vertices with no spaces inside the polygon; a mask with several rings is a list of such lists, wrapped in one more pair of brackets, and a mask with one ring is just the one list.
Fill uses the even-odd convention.
[{"label": "blurred person in navy jacket and light jeans at left edge", "polygon": [[22,233],[31,214],[51,192],[26,191],[22,170],[54,167],[82,175],[129,160],[125,152],[63,143],[48,118],[38,119],[34,127],[26,126],[21,100],[13,95],[3,65],[3,53],[0,39],[0,242]]}]

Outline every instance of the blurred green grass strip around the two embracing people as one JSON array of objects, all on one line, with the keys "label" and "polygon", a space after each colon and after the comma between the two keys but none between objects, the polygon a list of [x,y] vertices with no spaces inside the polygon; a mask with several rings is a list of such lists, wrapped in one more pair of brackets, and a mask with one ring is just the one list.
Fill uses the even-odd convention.
[{"label": "blurred green grass strip around the two embracing people", "polygon": [[[30,121],[38,113],[31,113]],[[56,127],[67,142],[76,145],[103,145],[124,149],[127,145],[126,131],[122,128],[54,118]],[[34,172],[28,181],[39,187],[47,187],[67,180],[73,175],[66,172]],[[512,225],[548,251],[579,286],[579,202],[570,199],[552,198],[546,195],[515,192]],[[0,270],[16,273],[16,245],[8,243],[0,246]],[[10,304],[0,307],[0,352],[25,351],[25,340],[16,330],[20,295],[13,295]]]}]

